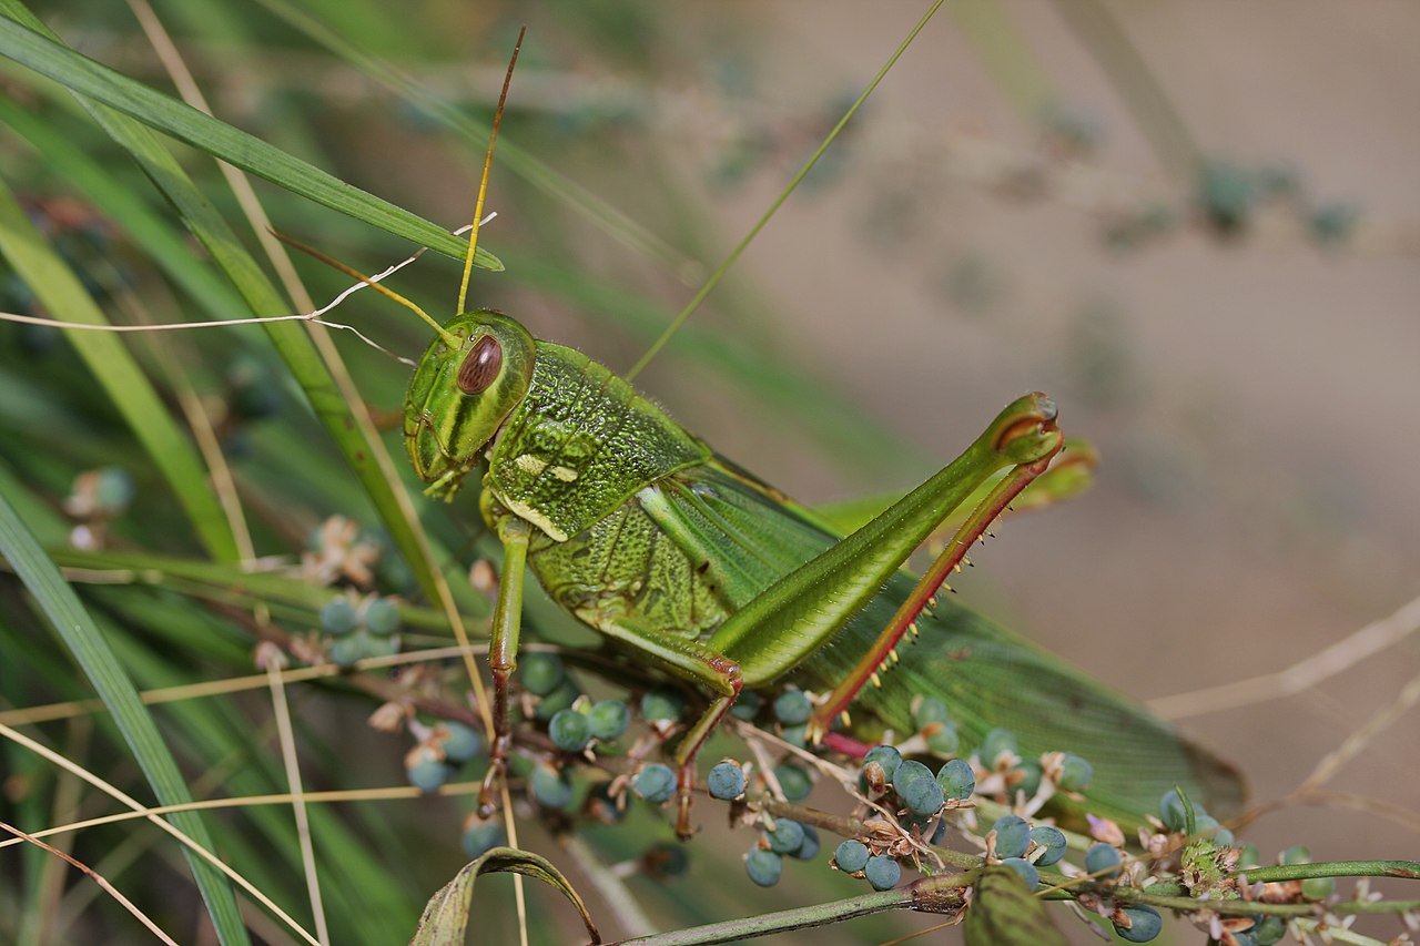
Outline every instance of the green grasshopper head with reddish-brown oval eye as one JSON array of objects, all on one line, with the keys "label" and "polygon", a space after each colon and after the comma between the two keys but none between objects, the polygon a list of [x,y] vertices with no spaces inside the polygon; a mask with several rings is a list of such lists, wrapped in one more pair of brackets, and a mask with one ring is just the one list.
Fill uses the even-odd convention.
[{"label": "green grasshopper head with reddish-brown oval eye", "polygon": [[525,328],[490,310],[454,315],[444,332],[409,382],[405,446],[426,493],[452,499],[527,393],[535,347]]}]

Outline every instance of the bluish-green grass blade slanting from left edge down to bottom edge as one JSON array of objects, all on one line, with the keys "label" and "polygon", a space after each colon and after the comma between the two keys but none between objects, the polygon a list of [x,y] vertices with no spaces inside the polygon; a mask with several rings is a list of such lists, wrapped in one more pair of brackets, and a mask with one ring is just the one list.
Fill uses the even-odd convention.
[{"label": "bluish-green grass blade slanting from left edge down to bottom edge", "polygon": [[[178,763],[158,733],[153,717],[139,700],[132,680],[84,611],[74,589],[60,575],[60,570],[44,554],[3,494],[0,494],[0,555],[4,555],[20,581],[34,595],[40,609],[54,625],[99,699],[108,706],[158,801],[165,805],[192,801]],[[173,814],[172,822],[203,847],[209,849],[213,847],[207,828],[196,812]],[[187,848],[183,848],[183,855],[197,881],[220,940],[226,945],[250,942],[227,878]]]}]

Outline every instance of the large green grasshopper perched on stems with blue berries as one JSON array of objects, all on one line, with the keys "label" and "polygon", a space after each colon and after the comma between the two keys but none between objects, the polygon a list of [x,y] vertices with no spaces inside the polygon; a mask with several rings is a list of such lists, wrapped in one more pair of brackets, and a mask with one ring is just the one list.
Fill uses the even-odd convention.
[{"label": "large green grasshopper perched on stems with blue berries", "polygon": [[[1092,811],[1137,820],[1174,784],[1213,811],[1241,800],[1230,768],[1137,705],[933,599],[966,548],[1059,450],[1044,395],[1008,405],[957,460],[843,537],[581,352],[535,341],[491,311],[457,315],[444,332],[415,371],[405,436],[433,496],[452,497],[487,464],[480,506],[506,561],[490,649],[498,744],[486,804],[508,749],[525,570],[623,653],[711,697],[677,750],[682,834],[696,750],[743,687],[781,680],[828,693],[811,727],[829,739],[849,705],[853,739],[910,733],[912,699],[929,695],[947,702],[968,739],[1005,726],[1027,754],[1079,753],[1095,766]],[[933,570],[923,580],[900,571],[981,489],[985,499]],[[914,646],[895,655],[903,634]]]}]

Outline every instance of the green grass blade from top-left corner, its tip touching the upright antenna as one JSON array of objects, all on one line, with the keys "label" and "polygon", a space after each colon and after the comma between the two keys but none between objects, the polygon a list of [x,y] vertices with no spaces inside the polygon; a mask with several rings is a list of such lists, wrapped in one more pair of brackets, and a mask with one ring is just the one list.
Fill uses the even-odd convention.
[{"label": "green grass blade from top-left corner, its tip touching the upright antenna", "polygon": [[[233,128],[190,105],[148,88],[87,55],[16,21],[18,9],[0,4],[0,55],[30,67],[71,91],[102,102],[199,151],[285,187],[291,193],[349,214],[371,226],[462,260],[467,244],[443,227],[334,178],[280,148]],[[24,16],[24,14],[20,14]],[[28,18],[28,17],[24,17]],[[496,256],[479,250],[477,266],[501,270]]]}]

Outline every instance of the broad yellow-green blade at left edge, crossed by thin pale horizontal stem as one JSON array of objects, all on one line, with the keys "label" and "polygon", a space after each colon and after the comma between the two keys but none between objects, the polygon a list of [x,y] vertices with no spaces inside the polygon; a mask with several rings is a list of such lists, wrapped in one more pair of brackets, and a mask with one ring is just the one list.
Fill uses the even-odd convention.
[{"label": "broad yellow-green blade at left edge, crossed by thin pale horizontal stem", "polygon": [[[44,241],[3,182],[0,253],[55,318],[88,325],[106,324],[108,320],[78,277]],[[207,551],[216,558],[236,561],[237,543],[222,504],[207,483],[207,470],[133,357],[116,337],[106,332],[70,332],[68,341],[108,391],[114,408],[168,480]]]}]

